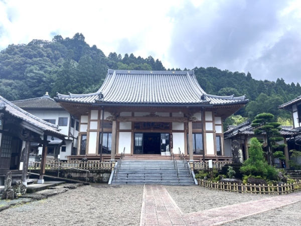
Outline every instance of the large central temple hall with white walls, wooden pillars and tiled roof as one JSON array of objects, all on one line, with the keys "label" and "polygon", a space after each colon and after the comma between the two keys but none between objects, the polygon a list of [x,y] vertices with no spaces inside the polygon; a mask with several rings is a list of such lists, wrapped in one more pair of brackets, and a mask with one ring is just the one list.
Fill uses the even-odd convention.
[{"label": "large central temple hall with white walls, wooden pillars and tiled roof", "polygon": [[190,161],[231,159],[223,120],[248,102],[207,94],[194,71],[111,69],[97,92],[54,99],[80,119],[77,156],[70,159],[112,161],[122,152],[142,159],[171,152]]}]

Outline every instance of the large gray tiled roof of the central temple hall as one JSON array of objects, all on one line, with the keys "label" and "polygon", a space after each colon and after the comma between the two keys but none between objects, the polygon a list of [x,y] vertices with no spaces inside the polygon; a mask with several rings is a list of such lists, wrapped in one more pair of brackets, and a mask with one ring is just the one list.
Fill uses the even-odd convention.
[{"label": "large gray tiled roof of the central temple hall", "polygon": [[141,104],[236,104],[247,103],[245,96],[207,94],[197,82],[194,71],[108,70],[100,89],[89,94],[58,93],[58,101],[81,103]]}]

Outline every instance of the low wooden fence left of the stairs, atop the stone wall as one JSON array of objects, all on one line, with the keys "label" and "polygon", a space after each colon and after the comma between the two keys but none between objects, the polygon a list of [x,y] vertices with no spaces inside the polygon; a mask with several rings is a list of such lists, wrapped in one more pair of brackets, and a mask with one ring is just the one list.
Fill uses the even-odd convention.
[{"label": "low wooden fence left of the stairs, atop the stone wall", "polygon": [[[110,169],[112,170],[115,166],[113,162],[99,162],[99,161],[69,161],[69,162],[58,162],[50,161],[46,162],[46,169],[59,169],[62,167],[72,167],[77,169]],[[41,163],[29,162],[30,169],[40,169]]]}]

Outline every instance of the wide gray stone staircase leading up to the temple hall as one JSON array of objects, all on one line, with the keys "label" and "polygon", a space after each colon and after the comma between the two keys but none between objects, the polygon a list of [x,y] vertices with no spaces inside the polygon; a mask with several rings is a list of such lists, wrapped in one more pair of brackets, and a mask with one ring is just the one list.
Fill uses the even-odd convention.
[{"label": "wide gray stone staircase leading up to the temple hall", "polygon": [[123,160],[111,184],[195,185],[193,175],[189,178],[188,167],[185,168],[183,161],[178,160],[177,164],[179,178],[171,160]]}]

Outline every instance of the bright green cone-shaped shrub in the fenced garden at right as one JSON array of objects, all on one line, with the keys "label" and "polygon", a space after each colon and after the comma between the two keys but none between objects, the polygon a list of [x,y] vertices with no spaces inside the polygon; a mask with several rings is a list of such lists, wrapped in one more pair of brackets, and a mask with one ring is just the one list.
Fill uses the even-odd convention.
[{"label": "bright green cone-shaped shrub in the fenced garden at right", "polygon": [[277,179],[277,170],[266,163],[261,144],[256,138],[250,139],[249,158],[244,161],[240,171],[245,175],[260,176],[268,180]]}]

